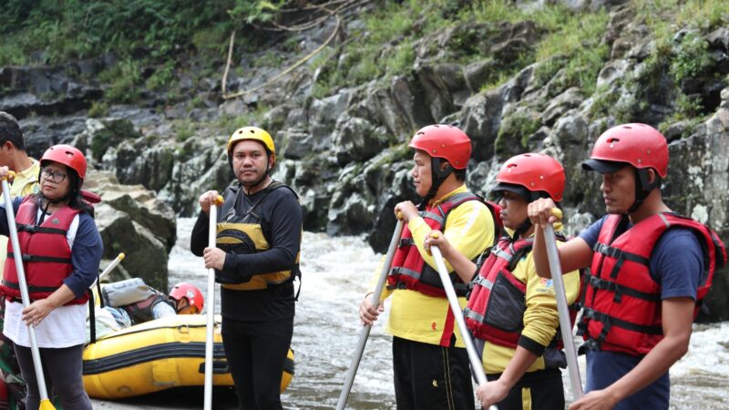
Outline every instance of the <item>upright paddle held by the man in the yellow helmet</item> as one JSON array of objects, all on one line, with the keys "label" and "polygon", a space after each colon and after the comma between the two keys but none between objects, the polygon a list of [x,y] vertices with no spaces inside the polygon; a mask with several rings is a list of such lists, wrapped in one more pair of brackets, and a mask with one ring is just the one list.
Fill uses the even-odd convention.
[{"label": "upright paddle held by the man in the yellow helmet", "polygon": [[[210,204],[210,226],[208,228],[208,247],[215,248],[215,237],[218,234],[218,205],[222,203],[222,197],[218,195],[214,203]],[[206,298],[208,305],[208,321],[205,324],[205,401],[204,409],[212,408],[212,346],[215,343],[213,339],[213,330],[215,329],[215,272],[208,269],[208,297]]]}]

